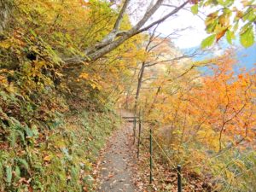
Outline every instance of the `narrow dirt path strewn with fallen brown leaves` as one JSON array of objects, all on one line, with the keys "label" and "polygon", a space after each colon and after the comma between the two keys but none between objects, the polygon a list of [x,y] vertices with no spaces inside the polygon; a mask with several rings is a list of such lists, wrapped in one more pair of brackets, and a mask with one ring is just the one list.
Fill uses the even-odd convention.
[{"label": "narrow dirt path strewn with fallen brown leaves", "polygon": [[[122,112],[123,116],[131,113]],[[101,186],[99,192],[138,191],[132,182],[132,167],[136,161],[132,147],[132,123],[124,123],[108,140],[100,164]]]}]

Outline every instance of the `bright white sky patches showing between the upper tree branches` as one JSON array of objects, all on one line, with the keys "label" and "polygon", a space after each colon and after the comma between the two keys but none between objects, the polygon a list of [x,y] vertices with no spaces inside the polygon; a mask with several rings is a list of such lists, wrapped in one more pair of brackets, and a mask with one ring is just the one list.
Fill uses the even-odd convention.
[{"label": "bright white sky patches showing between the upper tree branches", "polygon": [[[133,24],[137,23],[137,20],[140,20],[145,10],[148,8],[150,2],[154,2],[156,0],[131,0],[131,6],[128,12],[131,15],[131,22]],[[242,0],[235,0],[234,5],[241,9]],[[169,2],[169,3],[168,3]],[[171,5],[180,5],[184,2],[184,0],[166,0],[165,3]],[[209,36],[205,31],[205,23],[204,19],[206,15],[212,13],[214,10],[220,8],[219,6],[215,6],[213,8],[201,8],[199,9],[198,15],[193,15],[190,11],[190,7],[192,5],[188,4],[185,9],[180,10],[176,16],[172,16],[168,20],[164,21],[160,24],[157,29],[157,32],[163,34],[163,36],[167,36],[172,32],[179,31],[178,36],[172,36],[172,42],[180,48],[180,49],[188,49],[199,46],[201,41],[204,38]],[[170,13],[173,8],[161,6],[160,9],[156,11],[154,15],[152,15],[151,20],[148,23],[152,22],[153,20],[160,19],[163,15]],[[187,28],[186,30],[183,30]]]}]

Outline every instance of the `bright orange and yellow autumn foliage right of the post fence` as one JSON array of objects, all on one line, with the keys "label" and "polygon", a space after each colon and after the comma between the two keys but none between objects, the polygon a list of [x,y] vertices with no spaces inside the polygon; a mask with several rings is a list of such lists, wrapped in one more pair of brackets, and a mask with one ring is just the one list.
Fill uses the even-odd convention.
[{"label": "bright orange and yellow autumn foliage right of the post fence", "polygon": [[[194,65],[205,66],[206,63],[207,67],[190,69],[188,73],[183,73],[186,69],[181,67],[179,74],[183,76],[172,70],[181,63],[166,64],[166,75],[160,72],[156,80],[149,83],[154,91],[143,90],[140,107],[148,126],[153,127],[154,150],[160,155],[156,155],[155,161],[160,170],[171,167],[170,172],[155,174],[159,179],[168,177],[178,163],[183,164],[184,174],[191,179],[185,187],[188,191],[209,187],[225,191],[225,183],[220,183],[234,180],[251,183],[245,188],[251,189],[253,180],[246,176],[253,165],[247,166],[243,158],[255,155],[255,69],[235,73],[232,50]],[[241,153],[241,157],[236,153]],[[228,160],[231,160],[230,166],[225,167]],[[165,164],[168,166],[163,167]],[[236,167],[237,172],[231,166]],[[225,169],[225,174],[220,167]],[[207,177],[201,175],[206,172]],[[217,178],[223,179],[222,182],[216,183]],[[173,188],[167,183],[158,185],[162,189],[176,190],[175,185]],[[241,189],[239,184],[232,186]]]}]

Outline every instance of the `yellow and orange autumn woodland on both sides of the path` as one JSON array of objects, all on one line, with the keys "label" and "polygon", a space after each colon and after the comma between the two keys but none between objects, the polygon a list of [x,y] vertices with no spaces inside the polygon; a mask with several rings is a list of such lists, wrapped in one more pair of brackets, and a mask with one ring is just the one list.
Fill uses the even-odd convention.
[{"label": "yellow and orange autumn woodland on both sides of the path", "polygon": [[[223,38],[255,48],[254,1],[152,1],[133,24],[137,3],[0,0],[1,191],[95,191],[93,163],[117,108],[143,111],[155,165],[182,164],[185,189],[256,188],[255,68],[237,68],[234,48],[195,61],[201,50],[183,53],[177,32],[158,32],[181,9],[207,8],[203,52]],[[160,6],[168,12],[152,19]],[[162,176],[155,185],[171,190]]]}]

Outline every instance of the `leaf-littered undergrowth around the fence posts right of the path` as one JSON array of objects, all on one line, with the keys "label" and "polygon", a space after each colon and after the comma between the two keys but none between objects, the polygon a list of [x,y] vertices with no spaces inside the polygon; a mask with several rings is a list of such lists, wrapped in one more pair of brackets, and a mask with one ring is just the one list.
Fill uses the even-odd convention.
[{"label": "leaf-littered undergrowth around the fence posts right of the path", "polygon": [[205,146],[166,145],[153,131],[153,183],[149,183],[149,128],[141,137],[139,175],[147,191],[177,191],[177,165],[182,166],[183,191],[253,192],[256,153],[252,148],[230,148],[214,153]]}]

